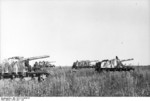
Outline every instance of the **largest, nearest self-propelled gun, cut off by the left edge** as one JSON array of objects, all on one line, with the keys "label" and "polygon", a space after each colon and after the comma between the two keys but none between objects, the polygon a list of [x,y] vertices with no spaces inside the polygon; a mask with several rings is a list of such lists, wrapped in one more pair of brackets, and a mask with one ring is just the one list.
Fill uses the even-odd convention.
[{"label": "largest, nearest self-propelled gun, cut off by the left edge", "polygon": [[38,71],[34,71],[31,65],[29,64],[29,61],[48,57],[49,56],[47,55],[30,58],[17,56],[5,59],[0,66],[0,79],[5,78],[23,79],[24,77],[31,77],[31,78],[38,77],[38,80],[41,81],[45,79],[45,77],[48,77],[49,73],[47,73],[46,71],[42,71],[40,69]]}]

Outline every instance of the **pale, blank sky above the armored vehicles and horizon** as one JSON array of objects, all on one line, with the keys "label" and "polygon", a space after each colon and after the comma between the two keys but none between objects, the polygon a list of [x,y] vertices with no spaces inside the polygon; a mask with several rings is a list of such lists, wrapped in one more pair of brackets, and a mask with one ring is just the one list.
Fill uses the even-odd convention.
[{"label": "pale, blank sky above the armored vehicles and horizon", "polygon": [[149,0],[1,0],[1,59],[50,55],[76,60],[134,58],[150,64]]}]

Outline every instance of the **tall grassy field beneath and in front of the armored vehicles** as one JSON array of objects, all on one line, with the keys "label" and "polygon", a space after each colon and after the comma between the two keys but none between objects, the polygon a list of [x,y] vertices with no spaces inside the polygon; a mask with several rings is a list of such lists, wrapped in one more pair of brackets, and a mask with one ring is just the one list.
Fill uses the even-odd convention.
[{"label": "tall grassy field beneath and in front of the armored vehicles", "polygon": [[0,96],[150,96],[150,66],[130,72],[94,69],[49,69],[50,76],[37,80],[0,80]]}]

